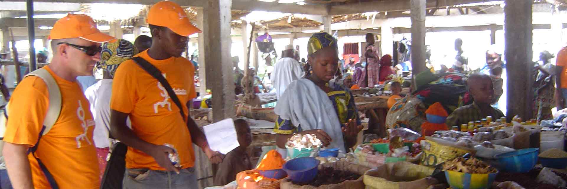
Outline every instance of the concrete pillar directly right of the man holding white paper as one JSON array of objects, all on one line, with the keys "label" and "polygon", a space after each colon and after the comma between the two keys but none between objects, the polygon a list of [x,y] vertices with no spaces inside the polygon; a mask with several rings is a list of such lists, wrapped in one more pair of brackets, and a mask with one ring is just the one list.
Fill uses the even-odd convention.
[{"label": "concrete pillar directly right of the man holding white paper", "polygon": [[[213,93],[213,121],[234,117],[234,72],[230,57],[230,20],[232,0],[207,0],[204,7],[205,24],[208,25],[206,38],[209,39],[209,53],[205,54],[209,66],[207,79]],[[211,51],[214,49],[214,52]]]}]

